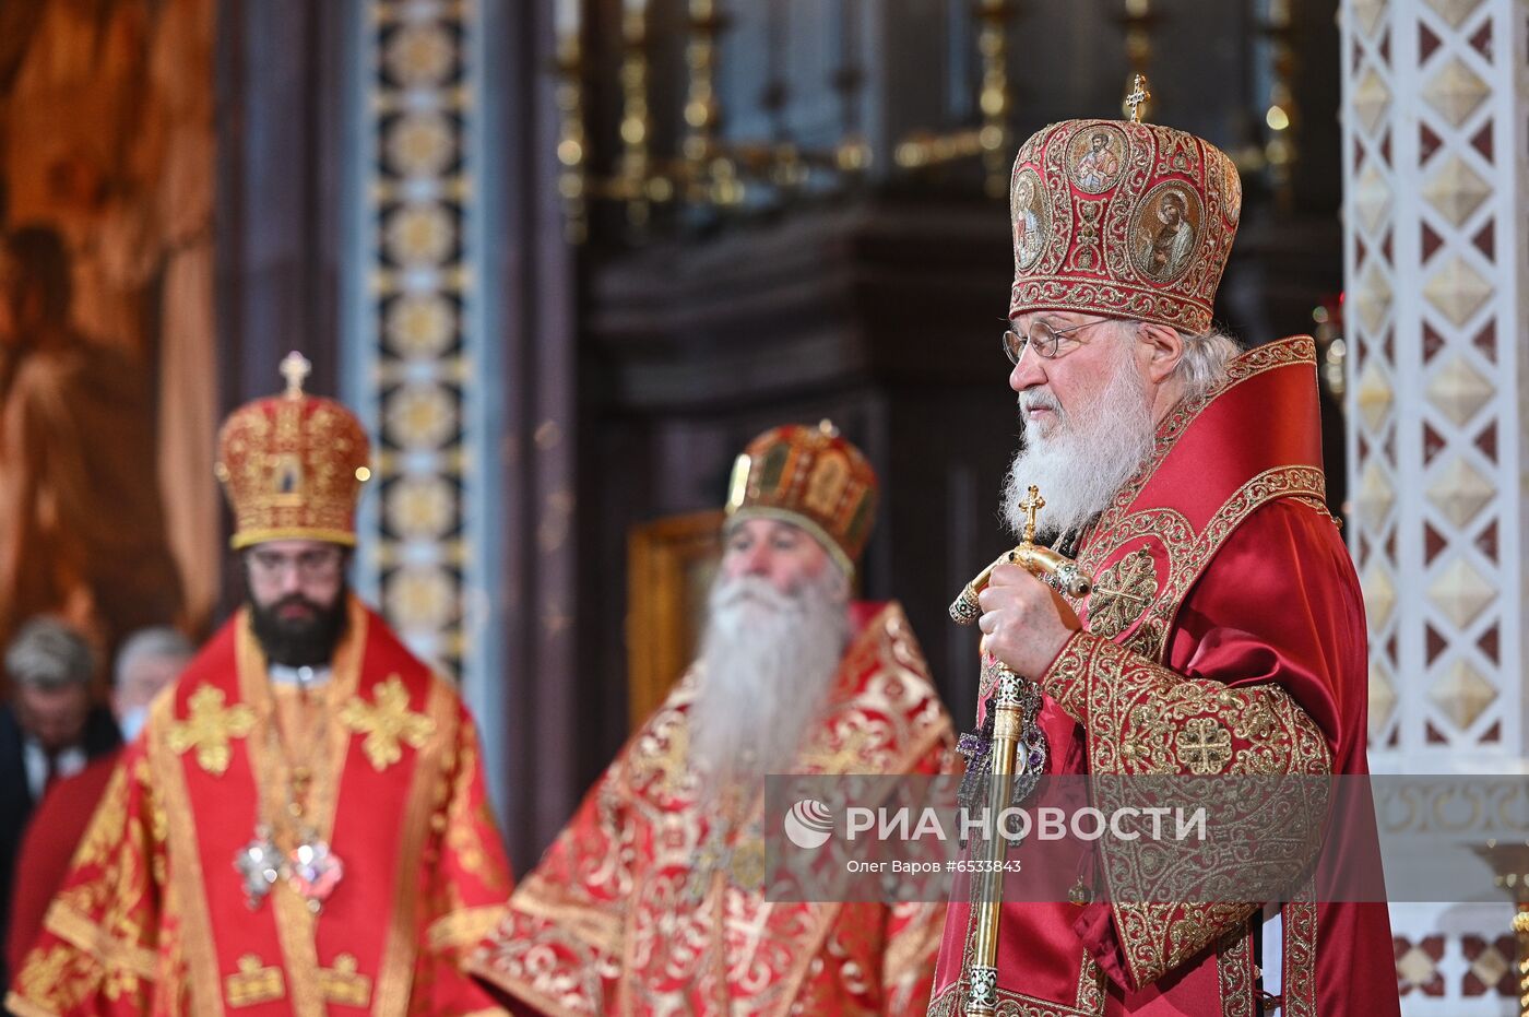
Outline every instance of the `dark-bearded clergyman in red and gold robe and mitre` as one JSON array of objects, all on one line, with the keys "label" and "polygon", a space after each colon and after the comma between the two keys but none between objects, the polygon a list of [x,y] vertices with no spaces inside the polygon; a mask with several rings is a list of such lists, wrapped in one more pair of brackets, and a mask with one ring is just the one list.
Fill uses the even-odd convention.
[{"label": "dark-bearded clergyman in red and gold robe and mitre", "polygon": [[248,604],[124,751],[20,1017],[505,1012],[462,970],[511,889],[476,728],[347,590],[368,444],[306,367],[223,425]]}]

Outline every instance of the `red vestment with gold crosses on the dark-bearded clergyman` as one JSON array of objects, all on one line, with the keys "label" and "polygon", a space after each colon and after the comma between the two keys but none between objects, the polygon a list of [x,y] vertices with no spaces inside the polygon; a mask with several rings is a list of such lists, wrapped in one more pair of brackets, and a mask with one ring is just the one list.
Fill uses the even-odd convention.
[{"label": "red vestment with gold crosses on the dark-bearded clergyman", "polygon": [[[248,612],[161,694],[15,976],[12,1012],[503,1012],[460,968],[511,889],[472,719],[381,618],[355,598],[349,612],[309,759],[278,748]],[[344,863],[318,915],[284,879],[251,907],[234,869],[257,814],[289,807],[294,766],[310,769],[306,814]]]}]

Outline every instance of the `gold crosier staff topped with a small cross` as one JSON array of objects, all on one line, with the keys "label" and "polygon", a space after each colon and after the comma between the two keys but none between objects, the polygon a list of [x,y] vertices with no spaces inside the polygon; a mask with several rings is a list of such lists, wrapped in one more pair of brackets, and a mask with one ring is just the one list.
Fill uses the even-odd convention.
[{"label": "gold crosier staff topped with a small cross", "polygon": [[[1057,592],[1084,596],[1093,589],[1093,580],[1078,564],[1050,547],[1035,543],[1035,517],[1046,500],[1040,489],[1031,486],[1029,497],[1020,503],[1024,509],[1024,540],[1014,551],[1005,552],[997,561],[977,573],[950,607],[954,621],[968,625],[982,615],[977,593],[988,586],[992,570],[1006,561],[1023,566],[1035,578]],[[992,775],[988,780],[988,817],[992,820],[1009,806],[1014,788],[1020,733],[1024,725],[1026,679],[1006,667],[998,668],[998,684],[994,694],[992,716]],[[1027,766],[1021,762],[1020,766]],[[998,1008],[998,918],[1003,907],[1003,861],[1008,840],[997,827],[989,829],[983,841],[985,863],[977,878],[977,939],[972,944],[972,963],[966,994],[966,1017],[992,1017]]]}]

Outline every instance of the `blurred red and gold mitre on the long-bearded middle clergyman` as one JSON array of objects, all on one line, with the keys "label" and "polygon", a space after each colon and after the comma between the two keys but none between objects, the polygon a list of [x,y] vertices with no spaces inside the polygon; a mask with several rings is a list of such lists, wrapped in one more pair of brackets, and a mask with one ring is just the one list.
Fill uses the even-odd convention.
[{"label": "blurred red and gold mitre on the long-bearded middle clergyman", "polygon": [[829,421],[771,428],[732,465],[728,526],[746,518],[801,526],[855,575],[876,518],[876,473]]}]

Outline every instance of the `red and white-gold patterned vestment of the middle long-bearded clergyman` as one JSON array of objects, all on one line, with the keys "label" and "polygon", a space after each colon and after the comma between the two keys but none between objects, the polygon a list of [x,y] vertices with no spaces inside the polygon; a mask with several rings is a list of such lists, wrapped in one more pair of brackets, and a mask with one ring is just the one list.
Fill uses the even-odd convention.
[{"label": "red and white-gold patterned vestment of the middle long-bearded clergyman", "polygon": [[[737,826],[687,766],[697,674],[625,745],[471,970],[538,1011],[922,1014],[942,905],[764,899],[763,795]],[[907,618],[853,639],[795,772],[936,774],[951,720]]]}]

